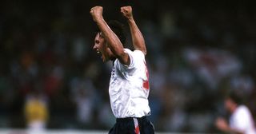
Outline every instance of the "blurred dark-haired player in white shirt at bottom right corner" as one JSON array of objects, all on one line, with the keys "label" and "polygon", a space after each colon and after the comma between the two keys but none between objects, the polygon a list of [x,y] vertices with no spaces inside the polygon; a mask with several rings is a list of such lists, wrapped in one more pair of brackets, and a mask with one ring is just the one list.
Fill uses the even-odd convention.
[{"label": "blurred dark-haired player in white shirt at bottom right corner", "polygon": [[254,119],[246,105],[242,104],[242,98],[238,93],[232,92],[225,99],[225,108],[230,113],[229,123],[218,117],[215,124],[222,132],[256,134]]}]

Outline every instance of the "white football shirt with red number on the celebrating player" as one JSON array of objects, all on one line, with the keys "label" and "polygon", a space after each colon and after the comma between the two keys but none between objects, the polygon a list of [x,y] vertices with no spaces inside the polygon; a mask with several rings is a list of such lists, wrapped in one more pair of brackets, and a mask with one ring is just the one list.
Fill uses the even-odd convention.
[{"label": "white football shirt with red number on the celebrating player", "polygon": [[116,118],[150,115],[148,96],[149,74],[145,55],[140,50],[125,49],[130,65],[122,65],[118,59],[110,77],[110,104]]}]

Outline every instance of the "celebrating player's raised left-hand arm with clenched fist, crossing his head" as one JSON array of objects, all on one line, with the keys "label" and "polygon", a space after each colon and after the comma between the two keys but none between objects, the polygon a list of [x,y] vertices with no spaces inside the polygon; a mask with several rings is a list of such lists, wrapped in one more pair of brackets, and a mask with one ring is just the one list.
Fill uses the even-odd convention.
[{"label": "celebrating player's raised left-hand arm with clenched fist, crossing his head", "polygon": [[106,24],[102,16],[102,12],[102,6],[94,6],[90,9],[90,14],[93,17],[94,22],[97,23],[99,30],[101,30],[103,37],[112,53],[114,53],[122,64],[130,65],[130,57],[127,53],[125,53],[122,42],[119,40],[118,36]]}]

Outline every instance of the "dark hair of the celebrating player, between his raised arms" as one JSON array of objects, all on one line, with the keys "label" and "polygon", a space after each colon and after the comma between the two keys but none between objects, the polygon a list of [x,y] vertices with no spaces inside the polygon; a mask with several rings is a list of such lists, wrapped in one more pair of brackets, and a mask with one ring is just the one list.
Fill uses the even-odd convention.
[{"label": "dark hair of the celebrating player, between his raised arms", "polygon": [[[116,20],[111,20],[107,22],[107,25],[110,26],[110,29],[118,36],[119,40],[122,42],[122,45],[126,44],[126,34],[124,26],[121,22]],[[98,30],[100,32],[100,30]]]}]

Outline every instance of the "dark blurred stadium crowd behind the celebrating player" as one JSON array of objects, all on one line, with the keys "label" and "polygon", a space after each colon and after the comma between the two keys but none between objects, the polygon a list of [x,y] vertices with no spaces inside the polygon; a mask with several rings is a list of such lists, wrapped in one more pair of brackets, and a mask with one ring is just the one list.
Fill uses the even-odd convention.
[{"label": "dark blurred stadium crowd behind the celebrating player", "polygon": [[226,116],[222,102],[230,90],[246,98],[255,119],[254,4],[3,0],[0,132],[26,128],[26,102],[35,92],[47,106],[47,130],[106,132],[112,127],[111,63],[103,64],[92,51],[95,25],[89,11],[96,5],[104,7],[106,20],[125,24],[119,7],[134,8],[148,49],[150,120],[157,132],[218,132],[214,120]]}]

